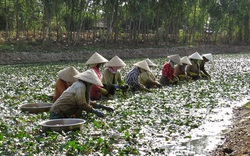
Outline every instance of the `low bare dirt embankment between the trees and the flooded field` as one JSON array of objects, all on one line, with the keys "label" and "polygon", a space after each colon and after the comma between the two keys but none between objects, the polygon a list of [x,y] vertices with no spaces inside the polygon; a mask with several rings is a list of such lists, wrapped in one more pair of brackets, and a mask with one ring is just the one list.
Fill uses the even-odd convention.
[{"label": "low bare dirt embankment between the trees and the flooded field", "polygon": [[[107,59],[118,55],[120,58],[138,58],[138,57],[166,57],[171,54],[180,56],[190,55],[198,51],[204,53],[241,53],[250,52],[250,46],[231,46],[231,45],[198,45],[172,48],[139,48],[139,49],[112,49],[98,50],[99,54]],[[35,62],[58,62],[58,61],[86,61],[94,51],[76,51],[76,52],[1,52],[0,64],[17,63],[35,63]]]}]

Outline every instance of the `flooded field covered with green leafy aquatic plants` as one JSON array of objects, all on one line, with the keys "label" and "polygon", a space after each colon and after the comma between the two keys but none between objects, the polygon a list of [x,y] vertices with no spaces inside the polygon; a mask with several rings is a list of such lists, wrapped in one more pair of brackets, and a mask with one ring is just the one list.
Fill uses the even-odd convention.
[{"label": "flooded field covered with green leafy aquatic plants", "polygon": [[[152,59],[160,76],[167,59]],[[192,140],[215,108],[227,108],[248,96],[250,54],[215,55],[208,64],[212,80],[183,82],[151,93],[117,93],[101,103],[115,108],[106,118],[85,115],[82,132],[43,133],[49,113],[27,114],[20,105],[50,102],[57,72],[69,65],[84,71],[84,62],[0,66],[0,155],[188,155],[179,140]],[[125,60],[125,75],[137,60]],[[209,128],[209,127],[208,127]],[[178,148],[177,148],[178,147]],[[193,153],[194,154],[194,153]]]}]

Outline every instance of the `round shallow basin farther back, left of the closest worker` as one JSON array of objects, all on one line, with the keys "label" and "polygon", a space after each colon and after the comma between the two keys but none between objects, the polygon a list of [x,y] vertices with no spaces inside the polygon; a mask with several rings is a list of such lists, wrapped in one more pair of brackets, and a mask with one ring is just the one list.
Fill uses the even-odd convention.
[{"label": "round shallow basin farther back, left of the closest worker", "polygon": [[22,110],[22,112],[41,113],[48,112],[51,106],[51,103],[30,103],[21,105],[20,109]]}]

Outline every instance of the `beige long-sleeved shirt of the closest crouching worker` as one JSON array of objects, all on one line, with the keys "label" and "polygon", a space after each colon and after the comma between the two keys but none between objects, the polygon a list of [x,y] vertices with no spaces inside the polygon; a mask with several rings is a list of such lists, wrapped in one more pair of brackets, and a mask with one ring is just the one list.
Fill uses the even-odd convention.
[{"label": "beige long-sleeved shirt of the closest crouching worker", "polygon": [[77,111],[91,110],[89,88],[83,81],[76,81],[52,105],[50,111],[71,117]]}]

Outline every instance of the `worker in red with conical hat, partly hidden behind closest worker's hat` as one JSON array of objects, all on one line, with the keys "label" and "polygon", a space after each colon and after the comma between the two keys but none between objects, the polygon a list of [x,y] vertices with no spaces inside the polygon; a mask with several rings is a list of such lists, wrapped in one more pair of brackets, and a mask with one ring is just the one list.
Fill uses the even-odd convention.
[{"label": "worker in red with conical hat, partly hidden behind closest worker's hat", "polygon": [[[89,66],[89,68],[93,69],[95,73],[97,74],[100,81],[102,81],[102,73],[100,71],[100,68],[108,62],[107,59],[105,59],[103,56],[95,52],[86,62],[86,64]],[[90,99],[91,100],[101,100],[102,95],[107,96],[108,91],[104,89],[103,87],[100,87],[98,85],[92,85],[90,88]]]}]

